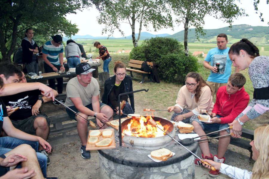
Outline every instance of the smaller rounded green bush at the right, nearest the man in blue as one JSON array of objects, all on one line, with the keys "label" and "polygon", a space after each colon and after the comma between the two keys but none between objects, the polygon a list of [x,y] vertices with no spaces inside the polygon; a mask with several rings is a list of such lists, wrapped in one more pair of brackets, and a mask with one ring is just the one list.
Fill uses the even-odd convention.
[{"label": "smaller rounded green bush at the right, nearest the man in blue", "polygon": [[162,55],[161,60],[155,61],[158,65],[159,77],[166,82],[183,84],[189,72],[198,70],[198,60],[192,55],[184,53],[170,53]]}]

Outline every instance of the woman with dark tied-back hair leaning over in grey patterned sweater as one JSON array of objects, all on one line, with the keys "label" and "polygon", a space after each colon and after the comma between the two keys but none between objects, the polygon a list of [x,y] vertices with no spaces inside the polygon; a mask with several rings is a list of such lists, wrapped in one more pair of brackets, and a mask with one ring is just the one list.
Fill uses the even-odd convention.
[{"label": "woman with dark tied-back hair leaning over in grey patterned sweater", "polygon": [[260,56],[259,49],[246,38],[230,47],[229,57],[234,67],[248,68],[248,75],[254,88],[253,99],[246,109],[230,124],[231,132],[238,138],[245,122],[269,111],[269,57]]}]

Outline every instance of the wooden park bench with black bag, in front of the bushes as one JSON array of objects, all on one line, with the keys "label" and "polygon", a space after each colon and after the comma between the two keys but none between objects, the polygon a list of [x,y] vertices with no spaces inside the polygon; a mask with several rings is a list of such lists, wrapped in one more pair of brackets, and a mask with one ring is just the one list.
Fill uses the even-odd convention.
[{"label": "wooden park bench with black bag, in front of the bushes", "polygon": [[[152,74],[150,72],[144,72],[142,70],[137,70],[137,69],[140,69],[142,67],[143,62],[144,61],[132,60],[131,59],[129,61],[129,64],[128,64],[128,67],[130,67],[130,68],[126,68],[126,71],[130,71],[130,75],[131,75],[132,78],[134,77],[132,72],[142,73],[143,78],[142,78],[142,81],[140,82],[140,84],[144,83],[144,79],[145,79],[146,75],[150,75],[149,80],[152,81],[152,77],[151,77]],[[151,68],[153,67],[152,62],[147,62],[147,64],[150,65]],[[134,69],[134,68],[137,68],[137,69]]]}]

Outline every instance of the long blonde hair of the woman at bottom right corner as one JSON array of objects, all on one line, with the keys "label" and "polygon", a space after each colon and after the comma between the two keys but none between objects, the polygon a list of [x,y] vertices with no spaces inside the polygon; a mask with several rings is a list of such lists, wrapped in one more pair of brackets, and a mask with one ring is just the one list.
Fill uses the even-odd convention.
[{"label": "long blonde hair of the woman at bottom right corner", "polygon": [[254,146],[258,150],[259,156],[254,163],[251,179],[269,178],[269,124],[255,129]]}]

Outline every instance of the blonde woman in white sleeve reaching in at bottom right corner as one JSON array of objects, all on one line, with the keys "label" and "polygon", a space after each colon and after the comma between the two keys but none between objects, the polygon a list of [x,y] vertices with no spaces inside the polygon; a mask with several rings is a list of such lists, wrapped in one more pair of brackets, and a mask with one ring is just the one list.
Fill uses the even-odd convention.
[{"label": "blonde woman in white sleeve reaching in at bottom right corner", "polygon": [[[252,172],[226,165],[224,163],[217,163],[212,160],[205,159],[205,161],[214,166],[215,169],[220,170],[221,173],[226,174],[231,178],[269,178],[269,124],[259,126],[257,129],[255,129],[254,140],[250,142],[250,145],[253,152],[252,159],[256,161],[254,163]],[[209,168],[209,166],[205,167]]]}]

